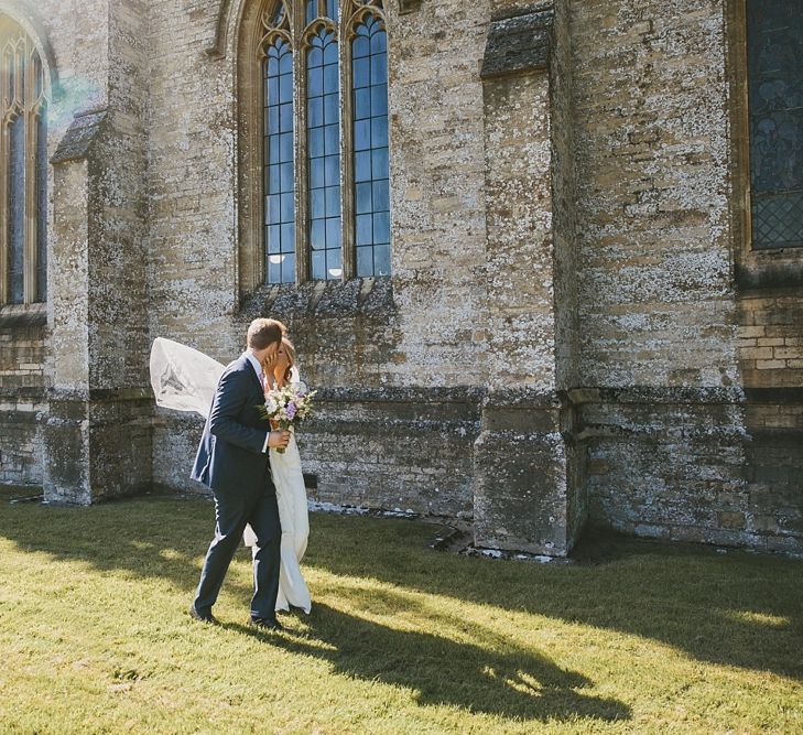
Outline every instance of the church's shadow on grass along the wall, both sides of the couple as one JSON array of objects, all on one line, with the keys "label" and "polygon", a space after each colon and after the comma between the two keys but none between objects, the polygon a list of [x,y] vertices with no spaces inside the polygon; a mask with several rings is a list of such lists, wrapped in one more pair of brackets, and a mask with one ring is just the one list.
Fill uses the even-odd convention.
[{"label": "church's shadow on grass along the wall, both sides of the couple", "polygon": [[[186,590],[189,604],[211,538],[211,504],[159,499],[73,509],[11,507],[4,500],[0,494],[0,536],[20,548],[166,579]],[[420,523],[322,514],[311,522],[304,563],[325,572],[633,634],[703,661],[803,679],[800,561],[615,540],[607,560],[595,564],[498,562],[430,551],[423,544],[434,529]],[[243,601],[250,597],[231,579],[226,586]],[[371,624],[354,625],[379,647]],[[422,634],[404,634],[413,635],[424,646]],[[404,636],[393,633],[382,649],[416,640]],[[465,663],[458,651],[446,658]],[[437,666],[448,667],[446,658],[438,657]],[[458,699],[453,692],[452,700]]]}]

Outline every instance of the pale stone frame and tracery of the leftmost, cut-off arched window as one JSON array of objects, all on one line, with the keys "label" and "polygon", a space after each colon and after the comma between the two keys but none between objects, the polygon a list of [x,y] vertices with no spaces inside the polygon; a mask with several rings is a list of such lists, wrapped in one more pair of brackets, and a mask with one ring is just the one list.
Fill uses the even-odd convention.
[{"label": "pale stone frame and tracery of the leftmost, cut-off arched window", "polygon": [[[0,34],[2,25],[10,26],[15,37],[7,43],[0,43],[0,160],[7,160],[7,151],[9,148],[9,123],[13,116],[22,115],[25,118],[25,217],[24,217],[24,251],[23,251],[23,299],[22,303],[9,303],[9,231],[6,227],[0,227],[0,310],[3,313],[19,312],[20,310],[41,311],[46,304],[47,274],[45,272],[45,299],[40,300],[37,296],[37,271],[39,271],[39,233],[41,227],[45,227],[47,231],[47,206],[44,212],[39,212],[37,166],[40,160],[37,156],[40,140],[40,118],[44,115],[46,121],[47,110],[51,107],[51,75],[48,63],[48,54],[46,48],[37,42],[32,29],[26,28],[26,23],[20,18],[11,14],[7,8],[0,6]],[[11,39],[9,34],[9,39]],[[2,40],[2,35],[0,35]],[[9,99],[7,93],[9,89],[9,68],[7,68],[7,51],[9,46],[18,46],[22,44],[22,54],[26,57],[25,75],[23,78],[15,79],[17,89],[14,99]],[[15,51],[12,51],[12,54]],[[15,61],[14,61],[15,63]],[[20,104],[20,86],[24,86],[24,100]],[[36,96],[36,87],[40,87],[40,94]],[[46,150],[46,141],[45,141]],[[50,185],[50,181],[46,182]],[[7,167],[0,170],[0,221],[7,221],[9,214],[8,208],[9,192],[9,171]],[[47,247],[47,244],[45,244]]]}]

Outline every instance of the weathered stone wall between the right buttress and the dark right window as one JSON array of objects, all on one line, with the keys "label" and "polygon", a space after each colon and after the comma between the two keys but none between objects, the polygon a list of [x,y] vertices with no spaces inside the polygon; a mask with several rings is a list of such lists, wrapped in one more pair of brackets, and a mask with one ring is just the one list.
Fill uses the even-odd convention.
[{"label": "weathered stone wall between the right buttress and the dark right window", "polygon": [[744,422],[710,399],[739,380],[723,9],[573,2],[572,23],[594,39],[573,46],[590,520],[737,542]]}]

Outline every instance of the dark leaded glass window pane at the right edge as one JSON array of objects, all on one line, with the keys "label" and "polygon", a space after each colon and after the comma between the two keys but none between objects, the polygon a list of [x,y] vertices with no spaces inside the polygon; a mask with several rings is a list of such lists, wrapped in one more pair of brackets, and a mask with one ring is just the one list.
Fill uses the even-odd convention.
[{"label": "dark leaded glass window pane at the right edge", "polygon": [[803,246],[803,12],[747,0],[751,227],[755,249]]}]

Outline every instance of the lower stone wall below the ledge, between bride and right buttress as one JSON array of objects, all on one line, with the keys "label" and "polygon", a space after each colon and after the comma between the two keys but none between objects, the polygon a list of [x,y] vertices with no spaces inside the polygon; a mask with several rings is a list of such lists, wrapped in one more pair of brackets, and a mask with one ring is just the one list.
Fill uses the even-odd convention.
[{"label": "lower stone wall below the ledge, between bride and right buttress", "polygon": [[328,389],[300,432],[315,499],[336,505],[474,516],[477,389]]}]

